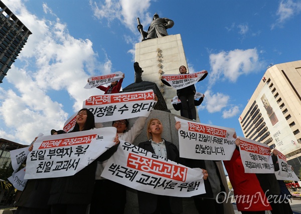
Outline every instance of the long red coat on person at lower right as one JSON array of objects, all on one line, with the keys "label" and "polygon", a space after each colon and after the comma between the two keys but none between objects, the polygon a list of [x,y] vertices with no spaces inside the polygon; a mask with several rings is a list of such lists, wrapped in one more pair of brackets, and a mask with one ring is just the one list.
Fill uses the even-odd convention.
[{"label": "long red coat on person at lower right", "polygon": [[224,160],[230,182],[234,189],[238,211],[271,210],[259,181],[254,173],[245,173],[240,152],[235,149],[231,160]]}]

